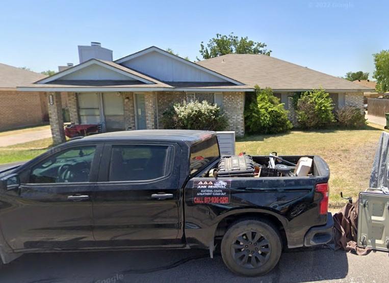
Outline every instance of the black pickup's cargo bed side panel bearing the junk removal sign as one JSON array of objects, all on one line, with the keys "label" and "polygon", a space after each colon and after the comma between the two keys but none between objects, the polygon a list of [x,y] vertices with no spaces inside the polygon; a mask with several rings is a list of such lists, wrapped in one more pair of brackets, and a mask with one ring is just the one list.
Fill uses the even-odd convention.
[{"label": "black pickup's cargo bed side panel bearing the junk removal sign", "polygon": [[[297,163],[302,156],[280,157]],[[304,177],[206,177],[219,161],[213,162],[186,185],[187,239],[191,239],[192,234],[194,238],[201,238],[203,229],[209,229],[213,223],[219,223],[222,218],[239,210],[239,213],[258,212],[275,219],[282,225],[289,247],[303,246],[307,231],[327,222],[327,215],[319,214],[318,204],[322,195],[315,188],[317,184],[328,183],[329,179],[329,168],[322,158],[304,157],[313,158],[312,174]],[[258,163],[268,159],[269,156],[253,156]],[[210,192],[212,195],[206,195],[206,191],[202,190],[205,188],[203,184],[210,182],[216,187]]]}]

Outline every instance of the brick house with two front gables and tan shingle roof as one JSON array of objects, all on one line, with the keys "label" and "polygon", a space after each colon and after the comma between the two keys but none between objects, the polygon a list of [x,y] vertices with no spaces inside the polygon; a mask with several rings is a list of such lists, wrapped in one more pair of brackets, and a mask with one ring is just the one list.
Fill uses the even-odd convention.
[{"label": "brick house with two front gables and tan shingle roof", "polygon": [[336,107],[362,109],[362,93],[352,82],[265,55],[229,54],[193,63],[151,46],[112,60],[99,43],[79,46],[80,64],[21,91],[47,93],[55,143],[65,140],[60,93],[68,95],[70,120],[100,123],[105,131],[162,128],[161,117],[174,102],[208,100],[219,105],[229,131],[244,135],[245,93],[256,84],[271,87],[293,118],[289,95],[322,87]]}]

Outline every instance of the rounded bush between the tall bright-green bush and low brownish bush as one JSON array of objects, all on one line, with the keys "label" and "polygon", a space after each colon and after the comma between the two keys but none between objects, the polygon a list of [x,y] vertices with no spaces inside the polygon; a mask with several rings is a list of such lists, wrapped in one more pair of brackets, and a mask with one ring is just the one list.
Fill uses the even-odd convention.
[{"label": "rounded bush between the tall bright-green bush and low brownish bush", "polygon": [[303,128],[326,127],[335,122],[332,99],[323,89],[302,93],[296,112],[297,121]]}]

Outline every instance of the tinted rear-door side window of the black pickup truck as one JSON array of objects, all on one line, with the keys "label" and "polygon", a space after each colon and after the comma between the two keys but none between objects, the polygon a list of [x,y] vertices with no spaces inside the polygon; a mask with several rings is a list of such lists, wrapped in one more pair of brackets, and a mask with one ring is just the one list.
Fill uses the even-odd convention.
[{"label": "tinted rear-door side window of the black pickup truck", "polygon": [[167,175],[169,146],[112,146],[109,181],[146,181]]}]

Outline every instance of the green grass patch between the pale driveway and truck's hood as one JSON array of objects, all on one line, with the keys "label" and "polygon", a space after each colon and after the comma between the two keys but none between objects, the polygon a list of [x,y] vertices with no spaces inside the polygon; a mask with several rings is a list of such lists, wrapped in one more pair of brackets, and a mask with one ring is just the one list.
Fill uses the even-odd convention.
[{"label": "green grass patch between the pale driveway and truck's hood", "polygon": [[0,164],[30,160],[53,145],[51,138],[0,147]]}]

